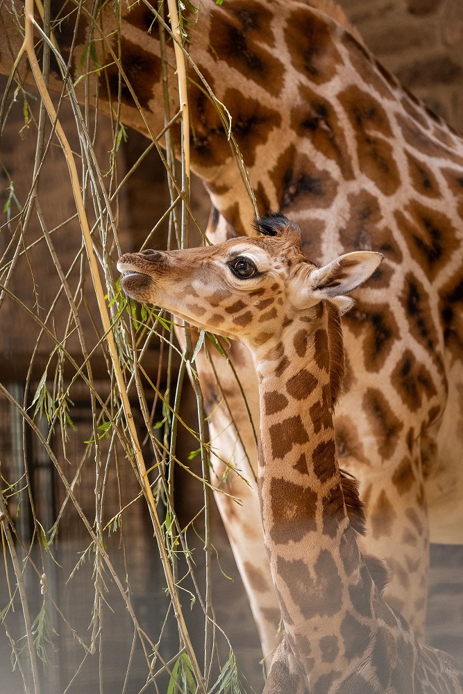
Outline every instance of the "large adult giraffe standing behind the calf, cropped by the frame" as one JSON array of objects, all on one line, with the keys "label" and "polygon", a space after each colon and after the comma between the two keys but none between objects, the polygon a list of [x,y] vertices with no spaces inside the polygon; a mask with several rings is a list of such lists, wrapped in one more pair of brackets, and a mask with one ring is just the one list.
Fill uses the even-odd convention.
[{"label": "large adult giraffe standing behind the calf, cropped by the frame", "polygon": [[[6,8],[1,16],[8,24]],[[60,16],[72,8],[60,5]],[[86,16],[81,12],[74,69],[87,39]],[[102,22],[110,36],[115,27],[109,7]],[[163,114],[152,22],[143,4],[125,12],[121,64],[156,133]],[[72,13],[57,32],[65,54],[69,26]],[[1,69],[8,72],[15,48],[10,51],[6,37],[12,40],[14,28],[1,29]],[[99,28],[94,31],[98,39]],[[114,36],[108,42],[117,46]],[[94,45],[100,65],[111,62],[108,46],[103,55],[105,43]],[[461,541],[463,528],[463,441],[457,434],[463,401],[463,142],[378,65],[329,0],[230,0],[221,7],[203,0],[189,49],[233,118],[260,212],[280,210],[299,223],[303,249],[317,262],[358,250],[385,255],[344,319],[348,373],[335,430],[340,462],[361,482],[369,552],[385,557],[392,569],[387,599],[419,633],[429,537]],[[107,85],[115,96],[117,67],[108,67],[106,76],[99,78],[99,103],[109,110]],[[52,78],[51,85],[59,83]],[[130,90],[123,85],[121,91],[122,119],[146,133]],[[194,82],[190,110],[192,167],[210,192],[208,232],[219,242],[244,233],[253,208],[217,110]],[[251,357],[237,344],[230,353],[257,421]],[[216,407],[221,395],[205,360],[199,369],[214,411],[214,446],[251,482],[250,488],[228,475],[224,483],[243,499],[241,508],[224,496],[217,501],[268,653],[279,611],[253,489],[251,427],[232,374],[221,369],[221,387],[240,441],[225,407]],[[218,480],[223,472],[216,462]]]}]

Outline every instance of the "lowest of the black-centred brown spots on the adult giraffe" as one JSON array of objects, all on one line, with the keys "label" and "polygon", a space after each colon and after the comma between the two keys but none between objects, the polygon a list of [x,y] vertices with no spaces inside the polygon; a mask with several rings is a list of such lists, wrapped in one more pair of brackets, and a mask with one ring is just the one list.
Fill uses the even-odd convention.
[{"label": "lowest of the black-centred brown spots on the adult giraffe", "polygon": [[411,350],[405,350],[396,368],[392,372],[391,382],[404,405],[412,411],[423,404],[423,399],[437,395],[437,389],[432,377],[424,364],[420,364]]}]

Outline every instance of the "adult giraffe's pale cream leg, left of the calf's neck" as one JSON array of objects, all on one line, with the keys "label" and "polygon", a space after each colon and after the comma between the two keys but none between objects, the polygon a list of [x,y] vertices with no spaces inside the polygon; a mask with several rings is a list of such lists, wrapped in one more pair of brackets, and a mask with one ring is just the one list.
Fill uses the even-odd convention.
[{"label": "adult giraffe's pale cream leg, left of the calf's neck", "polygon": [[[269,666],[277,643],[280,609],[264,548],[255,479],[255,439],[233,369],[213,346],[208,347],[208,353],[209,359],[201,353],[196,357],[195,363],[205,409],[210,415],[209,432],[214,471],[212,484],[221,490],[216,491],[214,496],[249,597],[262,652]],[[227,349],[227,357],[239,373],[255,428],[258,428],[258,387],[251,353],[241,343],[233,341]],[[214,455],[214,451],[217,455]],[[239,499],[239,503],[230,498],[232,496]]]}]

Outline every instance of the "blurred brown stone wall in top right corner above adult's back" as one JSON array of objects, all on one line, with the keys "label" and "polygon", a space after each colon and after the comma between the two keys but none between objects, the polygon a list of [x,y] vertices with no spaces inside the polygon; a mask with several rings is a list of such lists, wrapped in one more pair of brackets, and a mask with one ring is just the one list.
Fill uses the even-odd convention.
[{"label": "blurred brown stone wall in top right corner above adult's back", "polygon": [[365,43],[463,133],[463,0],[337,0]]}]

